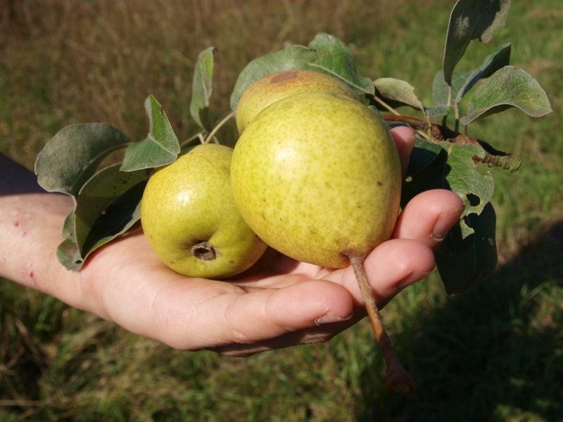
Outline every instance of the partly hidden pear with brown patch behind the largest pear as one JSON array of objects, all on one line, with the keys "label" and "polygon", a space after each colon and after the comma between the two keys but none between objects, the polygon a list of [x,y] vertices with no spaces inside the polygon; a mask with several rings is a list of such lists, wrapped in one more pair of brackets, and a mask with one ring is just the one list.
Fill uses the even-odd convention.
[{"label": "partly hidden pear with brown patch behind the largest pear", "polygon": [[236,106],[236,127],[239,133],[270,104],[301,92],[327,91],[358,98],[357,94],[336,77],[312,70],[286,70],[258,79],[242,94]]}]

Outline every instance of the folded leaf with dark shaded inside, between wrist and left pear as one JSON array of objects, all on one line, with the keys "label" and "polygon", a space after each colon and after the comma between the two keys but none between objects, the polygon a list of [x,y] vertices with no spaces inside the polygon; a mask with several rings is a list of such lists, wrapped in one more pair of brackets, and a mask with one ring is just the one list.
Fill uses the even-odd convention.
[{"label": "folded leaf with dark shaded inside, between wrist and left pear", "polygon": [[80,269],[91,252],[139,220],[139,202],[149,172],[122,172],[119,167],[111,165],[94,174],[75,198],[63,226],[65,241],[58,248],[58,257],[68,269]]}]

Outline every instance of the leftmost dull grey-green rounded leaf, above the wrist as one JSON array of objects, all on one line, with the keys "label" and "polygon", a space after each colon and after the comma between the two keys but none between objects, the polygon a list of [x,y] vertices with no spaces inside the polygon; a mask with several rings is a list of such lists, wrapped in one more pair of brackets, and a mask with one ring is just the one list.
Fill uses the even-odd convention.
[{"label": "leftmost dull grey-green rounded leaf, above the wrist", "polygon": [[76,196],[101,160],[127,143],[127,136],[108,124],[70,124],[57,132],[37,156],[37,181],[46,191]]}]

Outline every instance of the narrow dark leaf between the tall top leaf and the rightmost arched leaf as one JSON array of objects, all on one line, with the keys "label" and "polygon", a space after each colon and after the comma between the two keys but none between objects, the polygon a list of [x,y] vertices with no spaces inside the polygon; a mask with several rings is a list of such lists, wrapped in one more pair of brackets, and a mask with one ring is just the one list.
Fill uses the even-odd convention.
[{"label": "narrow dark leaf between the tall top leaf and the rightmost arched leaf", "polygon": [[[453,72],[452,75],[452,98],[450,102],[460,103],[462,97],[467,94],[469,89],[479,82],[480,79],[490,77],[500,68],[510,62],[511,44],[505,44],[497,51],[491,53],[483,60],[483,63],[470,72]],[[445,82],[443,70],[440,70],[434,77],[432,85],[432,97],[436,104],[448,103],[448,84]]]}]

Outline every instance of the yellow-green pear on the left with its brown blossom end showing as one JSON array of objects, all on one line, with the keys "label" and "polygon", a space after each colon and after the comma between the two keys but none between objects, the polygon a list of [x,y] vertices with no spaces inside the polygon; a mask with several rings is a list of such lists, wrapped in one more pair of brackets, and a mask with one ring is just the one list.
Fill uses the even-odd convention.
[{"label": "yellow-green pear on the left with its brown blossom end showing", "polygon": [[201,144],[148,179],[141,199],[144,234],[160,260],[179,274],[234,276],[267,248],[236,208],[231,158],[232,148]]}]

